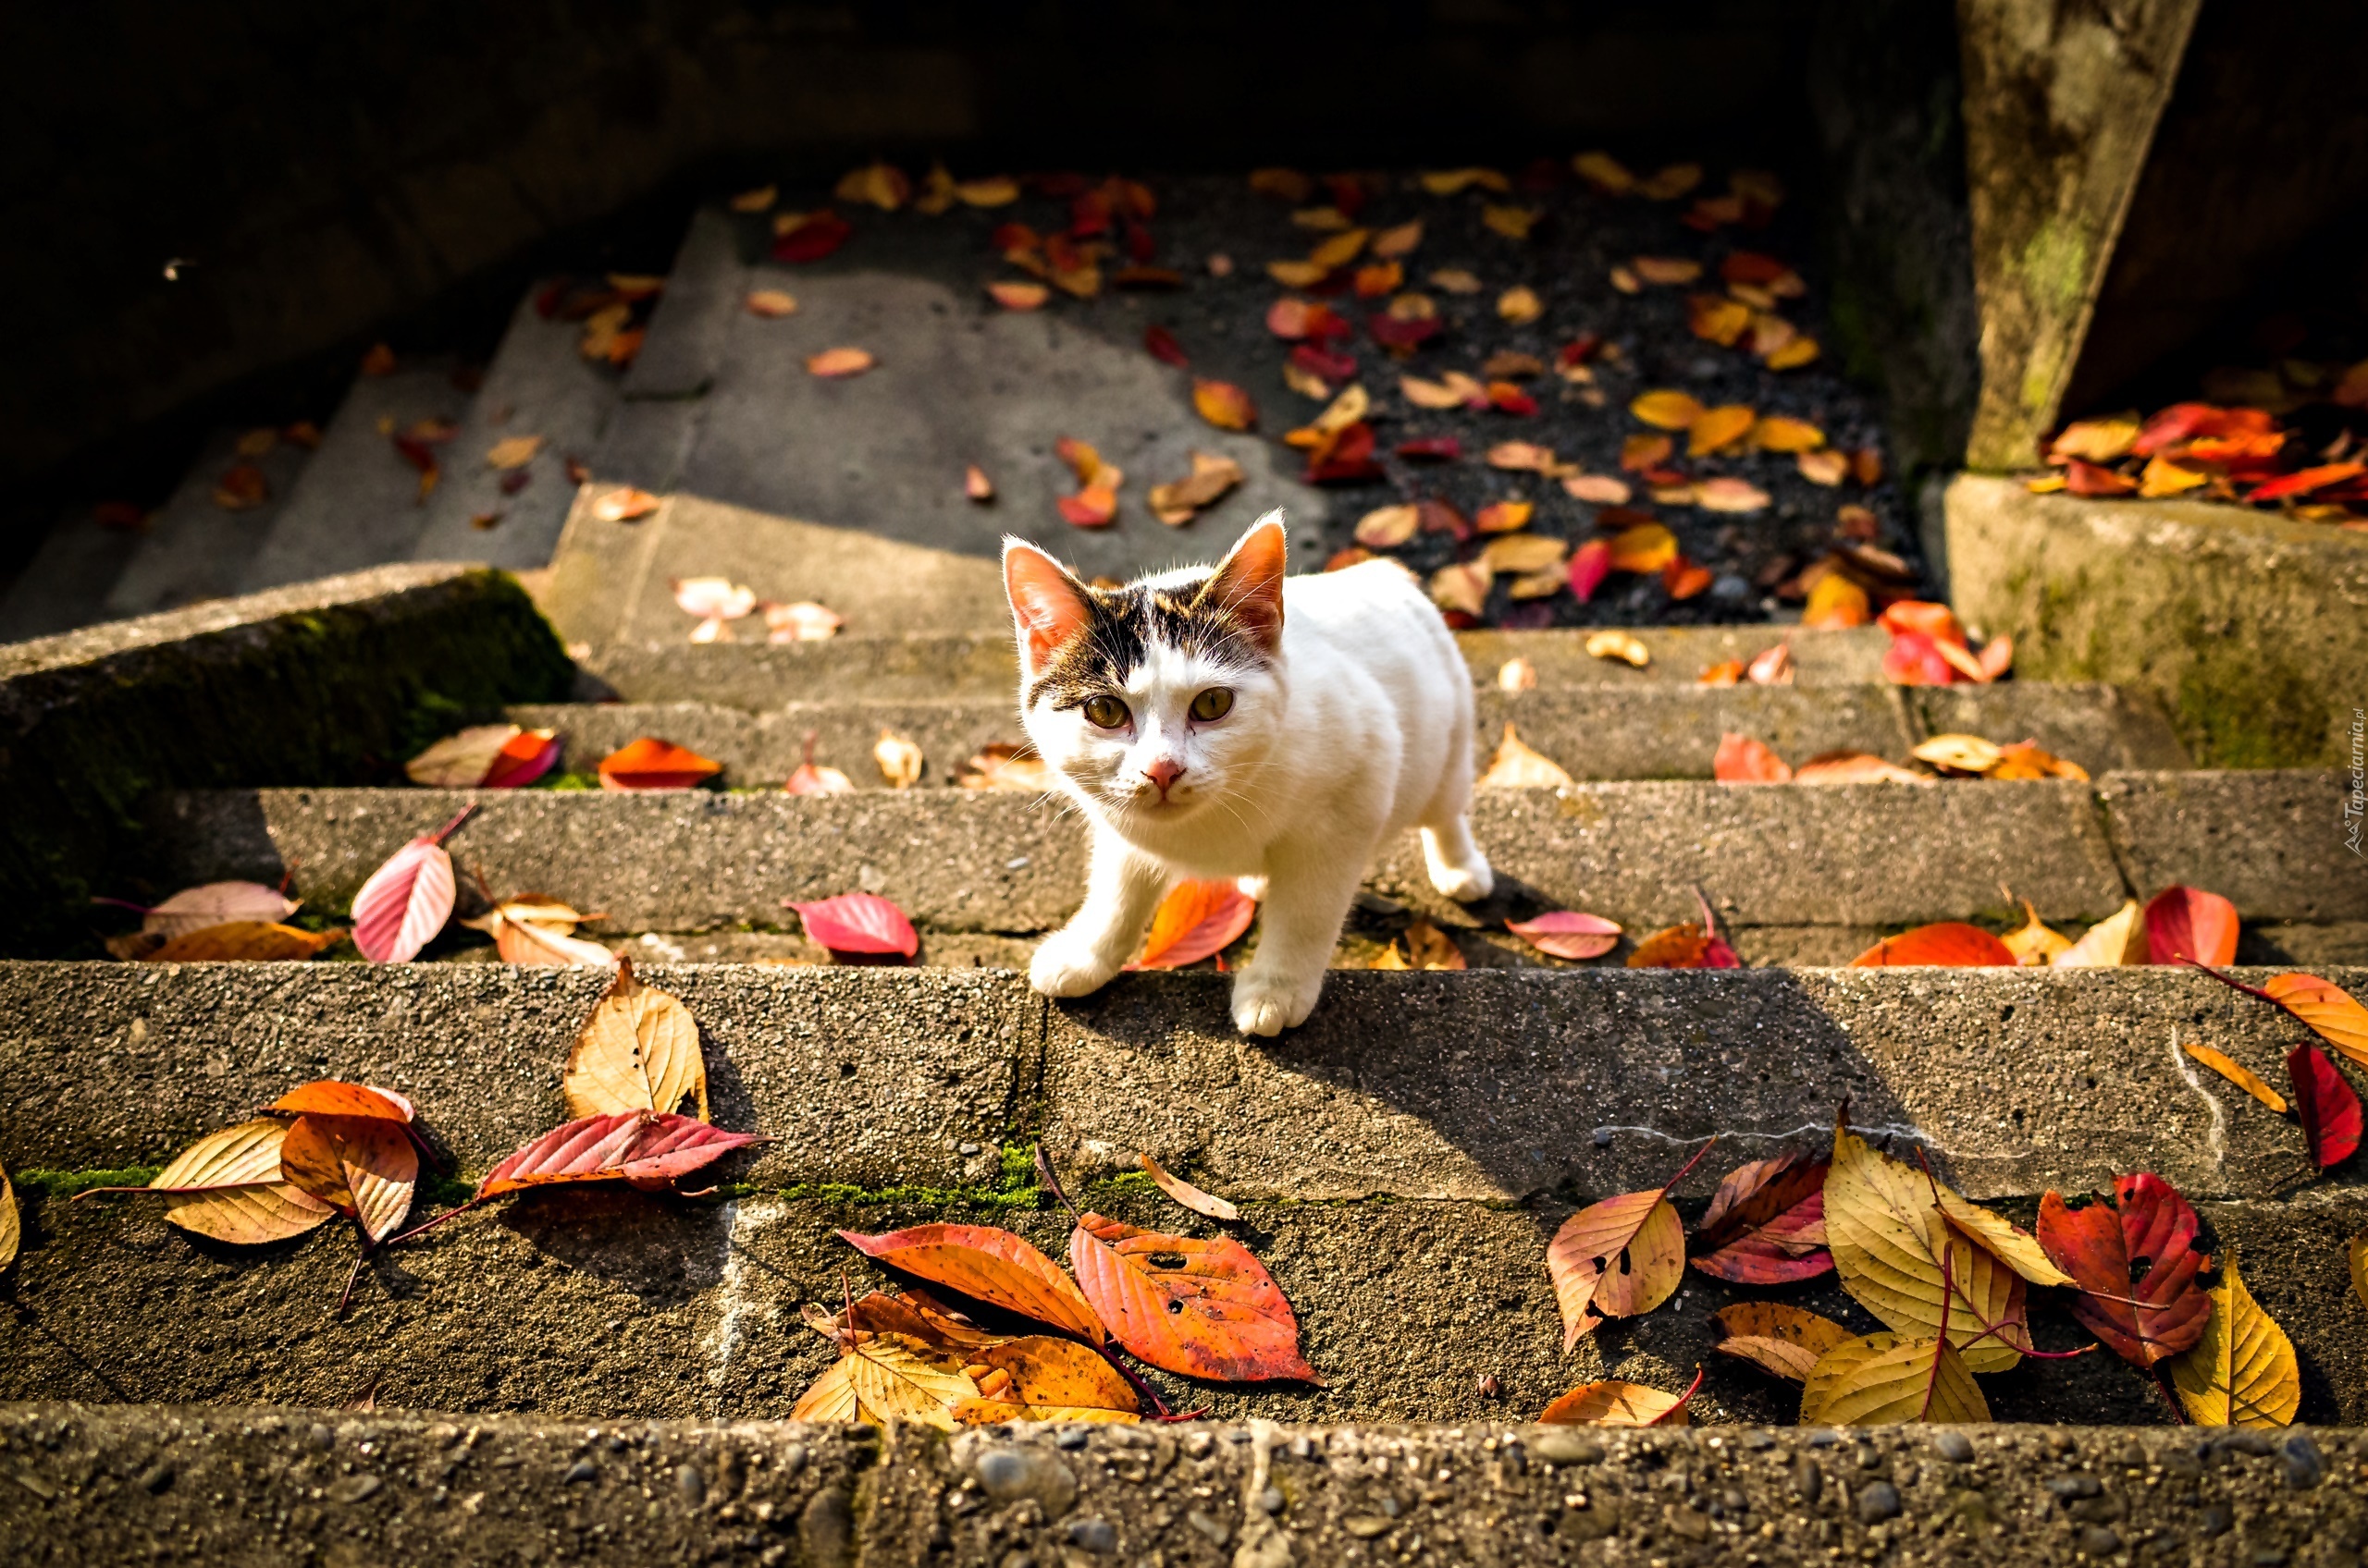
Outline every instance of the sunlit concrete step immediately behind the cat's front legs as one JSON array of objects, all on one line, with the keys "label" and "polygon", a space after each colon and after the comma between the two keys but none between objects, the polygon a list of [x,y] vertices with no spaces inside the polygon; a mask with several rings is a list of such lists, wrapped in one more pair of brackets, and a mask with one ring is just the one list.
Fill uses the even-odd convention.
[{"label": "sunlit concrete step immediately behind the cat's front legs", "polygon": [[[2020,924],[2003,888],[2048,919],[2093,921],[2186,881],[2235,900],[2259,943],[2247,952],[2264,962],[2328,962],[2368,936],[2368,879],[2347,872],[2325,831],[2340,789],[2332,772],[2126,772],[2093,786],[1482,791],[1475,831],[1499,872],[1489,902],[1463,910],[1433,893],[1411,834],[1385,846],[1366,888],[1461,931],[1546,905],[1594,910],[1632,933],[1698,919],[1703,888],[1748,955],[1835,964],[1906,924]],[[940,933],[1051,928],[1085,886],[1085,834],[1068,815],[1035,796],[954,789],[189,791],[159,805],[149,865],[175,886],[289,876],[305,902],[336,912],[464,798],[481,810],[450,843],[462,867],[497,893],[599,910],[618,933],[781,928],[784,898],[864,888],[905,907],[935,955]]]}]

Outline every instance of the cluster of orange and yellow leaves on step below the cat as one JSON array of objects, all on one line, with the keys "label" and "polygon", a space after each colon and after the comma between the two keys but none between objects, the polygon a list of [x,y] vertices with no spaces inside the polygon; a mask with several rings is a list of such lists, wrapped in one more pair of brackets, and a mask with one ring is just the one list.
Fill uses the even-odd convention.
[{"label": "cluster of orange and yellow leaves on step below the cat", "polygon": [[[1193,1213],[1241,1217],[1151,1156],[1141,1163],[1160,1191]],[[805,1307],[807,1326],[838,1348],[838,1360],[805,1390],[791,1421],[895,1419],[950,1431],[997,1421],[1186,1419],[1120,1352],[1215,1383],[1324,1381],[1300,1355],[1291,1303],[1246,1246],[1222,1234],[1179,1236],[1080,1213],[1042,1149],[1037,1175],[1075,1220],[1068,1270],[1025,1236],[990,1225],[838,1232],[874,1262],[926,1284],[907,1284],[902,1296],[874,1291],[836,1315]],[[1032,1331],[985,1329],[976,1315],[987,1312]]]}]

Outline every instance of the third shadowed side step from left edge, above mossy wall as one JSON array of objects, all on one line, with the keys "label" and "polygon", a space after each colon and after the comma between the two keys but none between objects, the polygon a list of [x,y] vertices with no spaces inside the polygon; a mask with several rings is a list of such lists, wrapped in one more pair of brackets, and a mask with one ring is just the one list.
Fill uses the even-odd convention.
[{"label": "third shadowed side step from left edge, above mossy wall", "polygon": [[[429,505],[419,495],[419,469],[405,462],[391,436],[419,419],[459,419],[469,403],[471,393],[455,386],[448,360],[358,377],[263,545],[239,573],[239,590],[258,592],[412,559]],[[436,455],[445,469],[459,467],[450,441]]]}]

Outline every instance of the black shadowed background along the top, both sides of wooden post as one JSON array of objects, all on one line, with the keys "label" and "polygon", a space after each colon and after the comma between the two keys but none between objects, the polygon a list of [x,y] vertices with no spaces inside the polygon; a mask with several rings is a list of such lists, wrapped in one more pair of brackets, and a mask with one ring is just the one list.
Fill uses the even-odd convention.
[{"label": "black shadowed background along the top, both sides of wooden post", "polygon": [[[2354,24],[2207,0],[2070,412],[2264,289],[2359,315],[2359,246],[2330,275],[2314,244],[2368,189]],[[1819,213],[1902,469],[1954,460],[1975,386],[1946,0],[85,0],[9,31],[0,568],[64,507],[161,497],[208,426],[327,417],[369,341],[485,353],[533,272],[665,270],[701,194],[871,156],[1750,161]]]}]

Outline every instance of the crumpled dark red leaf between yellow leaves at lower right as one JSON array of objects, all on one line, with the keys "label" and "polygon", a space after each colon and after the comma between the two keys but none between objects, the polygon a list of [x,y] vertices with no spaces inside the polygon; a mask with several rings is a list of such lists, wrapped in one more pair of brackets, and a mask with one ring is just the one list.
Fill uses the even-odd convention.
[{"label": "crumpled dark red leaf between yellow leaves at lower right", "polygon": [[2067,1208],[2048,1191],[2034,1232],[2048,1262],[2081,1286],[2072,1317],[2124,1362],[2153,1367],[2202,1338],[2212,1298],[2195,1274],[2212,1260],[2195,1248],[2195,1210],[2162,1177],[2115,1177],[2112,1199]]}]

